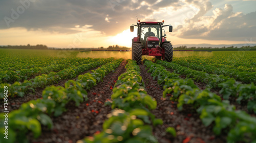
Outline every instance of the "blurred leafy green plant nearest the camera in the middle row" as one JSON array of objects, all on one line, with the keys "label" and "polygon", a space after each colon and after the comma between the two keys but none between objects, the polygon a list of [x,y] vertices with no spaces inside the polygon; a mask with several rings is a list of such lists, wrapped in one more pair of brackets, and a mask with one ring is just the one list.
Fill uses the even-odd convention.
[{"label": "blurred leafy green plant nearest the camera in the middle row", "polygon": [[125,112],[124,110],[113,110],[103,124],[103,131],[92,137],[87,137],[83,142],[158,142],[152,134],[152,128],[144,125],[137,116],[145,115],[147,112],[136,111]]}]

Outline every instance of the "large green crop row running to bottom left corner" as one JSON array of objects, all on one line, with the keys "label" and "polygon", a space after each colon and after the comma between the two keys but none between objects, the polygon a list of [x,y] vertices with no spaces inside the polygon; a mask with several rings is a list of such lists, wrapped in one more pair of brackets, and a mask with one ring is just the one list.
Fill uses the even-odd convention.
[{"label": "large green crop row running to bottom left corner", "polygon": [[[0,115],[0,141],[1,142],[27,142],[27,133],[33,132],[34,137],[41,134],[41,125],[52,128],[53,123],[49,116],[59,116],[66,111],[66,104],[74,101],[79,106],[83,100],[87,100],[87,91],[97,82],[104,78],[105,74],[115,70],[123,59],[112,59],[112,62],[102,65],[92,74],[80,75],[77,81],[69,80],[65,83],[65,88],[61,86],[47,87],[42,92],[42,99],[32,100],[22,104],[18,110],[8,114],[8,138],[4,138],[5,116]],[[70,84],[73,83],[73,84]],[[84,86],[86,85],[86,86]]]}]

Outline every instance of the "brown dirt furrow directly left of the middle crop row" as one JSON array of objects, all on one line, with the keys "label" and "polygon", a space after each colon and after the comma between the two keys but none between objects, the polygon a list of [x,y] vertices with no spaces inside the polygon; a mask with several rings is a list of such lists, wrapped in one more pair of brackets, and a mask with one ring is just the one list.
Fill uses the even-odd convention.
[{"label": "brown dirt furrow directly left of the middle crop row", "polygon": [[[42,127],[42,135],[31,142],[76,142],[86,136],[93,136],[94,133],[102,130],[102,124],[106,115],[111,112],[110,106],[104,103],[111,99],[112,88],[118,77],[126,71],[126,62],[123,61],[119,67],[106,75],[102,82],[88,91],[87,102],[76,107],[74,102],[69,103],[67,112],[58,117],[52,117],[53,130]],[[30,138],[33,138],[30,134]]]}]

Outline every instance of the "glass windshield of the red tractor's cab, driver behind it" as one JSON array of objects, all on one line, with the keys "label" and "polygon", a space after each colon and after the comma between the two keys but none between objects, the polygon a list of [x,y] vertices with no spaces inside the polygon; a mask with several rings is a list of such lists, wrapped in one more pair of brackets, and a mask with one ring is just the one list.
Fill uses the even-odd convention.
[{"label": "glass windshield of the red tractor's cab, driver behind it", "polygon": [[[141,42],[145,43],[148,36],[155,36],[161,41],[160,25],[142,25],[141,26]],[[160,44],[160,43],[159,43]]]}]

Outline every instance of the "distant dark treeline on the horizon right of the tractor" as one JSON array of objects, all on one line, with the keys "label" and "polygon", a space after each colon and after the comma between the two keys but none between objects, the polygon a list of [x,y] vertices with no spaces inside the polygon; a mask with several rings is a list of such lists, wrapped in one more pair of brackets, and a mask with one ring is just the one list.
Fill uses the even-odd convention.
[{"label": "distant dark treeline on the horizon right of the tractor", "polygon": [[256,46],[242,46],[242,47],[234,47],[234,46],[228,46],[228,47],[187,47],[185,45],[174,47],[175,50],[194,50],[194,51],[256,51]]}]

